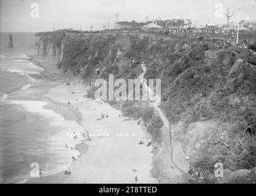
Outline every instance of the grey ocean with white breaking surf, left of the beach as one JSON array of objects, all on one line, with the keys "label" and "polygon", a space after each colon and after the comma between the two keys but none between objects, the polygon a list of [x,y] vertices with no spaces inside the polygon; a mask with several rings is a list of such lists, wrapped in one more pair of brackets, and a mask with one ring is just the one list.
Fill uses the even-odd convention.
[{"label": "grey ocean with white breaking surf, left of the beach", "polygon": [[[8,34],[12,34],[14,48],[7,48]],[[37,83],[33,75],[44,71],[28,61],[37,55],[34,33],[1,32],[0,41],[0,183],[31,178],[33,162],[44,175],[65,170],[71,157],[79,154],[65,148],[65,142],[71,140],[69,132],[83,128],[44,109],[49,102],[26,96],[26,90]],[[19,99],[17,94],[22,92]]]}]

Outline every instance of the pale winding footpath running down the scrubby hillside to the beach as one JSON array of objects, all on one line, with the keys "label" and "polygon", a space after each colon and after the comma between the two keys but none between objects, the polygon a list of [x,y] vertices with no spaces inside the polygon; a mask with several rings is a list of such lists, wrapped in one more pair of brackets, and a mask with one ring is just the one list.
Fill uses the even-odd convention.
[{"label": "pale winding footpath running down the scrubby hillside to the beach", "polygon": [[[138,77],[140,80],[144,79],[144,74],[147,70],[145,67],[145,64],[141,65],[143,73]],[[148,89],[149,96],[153,96],[152,89],[147,86],[147,84],[143,83],[145,85],[145,89]],[[162,134],[163,134],[163,142],[162,142],[162,148],[163,150],[169,154],[169,160],[163,159],[164,165],[170,168],[169,170],[171,178],[173,181],[182,181],[182,174],[186,173],[188,171],[188,160],[186,159],[186,154],[182,150],[182,146],[178,141],[175,141],[172,138],[172,132],[171,132],[171,124],[169,123],[168,119],[166,118],[165,114],[159,107],[157,107],[157,102],[160,103],[161,97],[158,97],[156,95],[156,101],[155,104],[153,104],[155,113],[158,114],[158,116],[163,121],[163,127],[161,128]],[[167,169],[167,170],[168,170]]]}]

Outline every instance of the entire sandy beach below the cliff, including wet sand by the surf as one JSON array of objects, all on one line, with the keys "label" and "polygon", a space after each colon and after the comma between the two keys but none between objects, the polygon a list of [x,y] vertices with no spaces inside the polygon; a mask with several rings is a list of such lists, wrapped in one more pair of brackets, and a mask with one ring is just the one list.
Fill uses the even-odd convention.
[{"label": "entire sandy beach below the cliff, including wet sand by the surf", "polygon": [[[41,62],[40,66],[47,67],[47,64]],[[47,72],[45,69],[44,75]],[[52,76],[56,78],[55,74]],[[45,109],[59,113],[65,120],[77,121],[88,131],[91,140],[82,140],[82,144],[76,146],[79,156],[69,167],[71,175],[60,171],[28,179],[26,183],[135,183],[136,175],[138,183],[157,183],[150,176],[152,146],[138,144],[146,138],[136,121],[120,118],[121,112],[104,102],[87,99],[87,87],[80,82],[67,86],[63,80],[56,80],[46,84],[42,87],[41,83],[40,90],[33,92],[35,97],[49,101]],[[26,94],[31,88],[26,89]],[[17,96],[20,99],[22,95]],[[65,109],[58,110],[58,105]],[[109,117],[101,119],[101,113]]]}]

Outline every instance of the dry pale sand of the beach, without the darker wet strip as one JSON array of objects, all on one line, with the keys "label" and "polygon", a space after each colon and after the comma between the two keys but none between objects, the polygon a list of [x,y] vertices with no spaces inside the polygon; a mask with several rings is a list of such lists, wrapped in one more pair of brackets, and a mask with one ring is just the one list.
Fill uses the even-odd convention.
[{"label": "dry pale sand of the beach, without the darker wet strip", "polygon": [[[136,121],[119,118],[120,111],[108,104],[85,99],[85,94],[85,88],[79,85],[59,85],[45,94],[59,102],[70,100],[74,107],[78,107],[82,113],[82,126],[91,135],[109,134],[106,137],[91,136],[87,153],[72,163],[72,175],[64,183],[134,183],[135,175],[139,178],[138,183],[155,183],[150,177],[152,148],[138,145],[139,141],[145,140],[141,127]],[[107,113],[109,118],[98,121],[101,113]]]}]

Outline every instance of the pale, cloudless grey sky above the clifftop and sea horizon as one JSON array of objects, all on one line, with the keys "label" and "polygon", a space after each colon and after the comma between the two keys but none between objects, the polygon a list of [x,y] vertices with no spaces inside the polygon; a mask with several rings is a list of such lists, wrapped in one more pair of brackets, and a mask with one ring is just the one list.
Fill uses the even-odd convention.
[{"label": "pale, cloudless grey sky above the clifftop and sea horizon", "polygon": [[[0,0],[0,31],[39,32],[73,28],[113,28],[118,21],[189,18],[196,26],[231,21],[256,21],[256,0]],[[240,10],[238,12],[238,9]],[[239,14],[238,14],[239,13]]]}]

